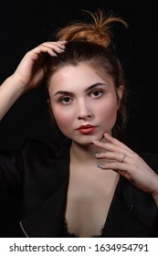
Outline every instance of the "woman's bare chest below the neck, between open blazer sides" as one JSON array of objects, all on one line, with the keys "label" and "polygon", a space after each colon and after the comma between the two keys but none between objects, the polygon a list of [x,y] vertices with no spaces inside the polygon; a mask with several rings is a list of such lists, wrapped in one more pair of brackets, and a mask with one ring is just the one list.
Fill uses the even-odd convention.
[{"label": "woman's bare chest below the neck, between open blazer sides", "polygon": [[79,237],[100,235],[111,200],[117,186],[118,176],[112,172],[106,176],[99,170],[88,174],[71,169],[68,182],[66,219],[68,231]]}]

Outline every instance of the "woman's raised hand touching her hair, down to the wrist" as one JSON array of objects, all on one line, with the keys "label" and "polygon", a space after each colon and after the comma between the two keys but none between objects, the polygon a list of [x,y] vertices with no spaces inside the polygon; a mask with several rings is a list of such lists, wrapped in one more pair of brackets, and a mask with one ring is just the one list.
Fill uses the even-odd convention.
[{"label": "woman's raised hand touching her hair, down to the wrist", "polygon": [[66,41],[45,42],[28,51],[13,74],[24,91],[36,88],[44,79],[47,56],[57,57],[65,48]]}]

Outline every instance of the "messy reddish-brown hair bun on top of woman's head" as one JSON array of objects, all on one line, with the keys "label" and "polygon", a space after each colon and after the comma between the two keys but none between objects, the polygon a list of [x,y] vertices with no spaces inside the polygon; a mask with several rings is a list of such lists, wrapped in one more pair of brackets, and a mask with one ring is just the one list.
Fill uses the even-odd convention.
[{"label": "messy reddish-brown hair bun on top of woman's head", "polygon": [[90,23],[71,22],[68,26],[58,31],[58,40],[87,40],[104,47],[111,43],[111,24],[121,23],[127,27],[127,23],[119,16],[104,16],[103,12],[98,9],[97,13],[85,11],[91,17]]}]

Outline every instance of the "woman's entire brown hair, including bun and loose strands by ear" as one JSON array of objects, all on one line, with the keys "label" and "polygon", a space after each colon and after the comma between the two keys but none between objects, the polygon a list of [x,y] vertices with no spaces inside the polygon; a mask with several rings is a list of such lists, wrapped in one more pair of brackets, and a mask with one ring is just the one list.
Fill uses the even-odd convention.
[{"label": "woman's entire brown hair, including bun and loose strands by ear", "polygon": [[[121,85],[124,88],[117,121],[112,129],[112,134],[118,136],[119,132],[125,127],[127,120],[124,104],[126,87],[121,63],[115,54],[111,39],[113,37],[111,25],[121,23],[127,27],[127,23],[121,17],[104,16],[100,9],[97,13],[86,12],[92,18],[90,23],[71,22],[68,26],[58,30],[56,39],[67,40],[68,44],[65,52],[58,55],[58,58],[49,59],[47,64],[47,84],[56,70],[68,65],[78,66],[82,62],[92,68],[100,69],[102,73],[106,70],[113,79],[115,89]],[[117,95],[117,97],[119,101],[119,96]]]}]

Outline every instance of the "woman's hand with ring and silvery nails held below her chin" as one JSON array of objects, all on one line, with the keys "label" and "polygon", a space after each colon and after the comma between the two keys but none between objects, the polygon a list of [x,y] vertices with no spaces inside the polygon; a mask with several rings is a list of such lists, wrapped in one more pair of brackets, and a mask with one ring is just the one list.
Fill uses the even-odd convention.
[{"label": "woman's hand with ring and silvery nails held below her chin", "polygon": [[97,154],[98,159],[105,159],[105,164],[99,165],[101,169],[112,169],[121,176],[126,177],[136,187],[151,194],[158,205],[158,176],[147,165],[142,157],[134,153],[128,146],[122,144],[110,134],[104,134],[106,142],[93,142],[103,152]]}]

